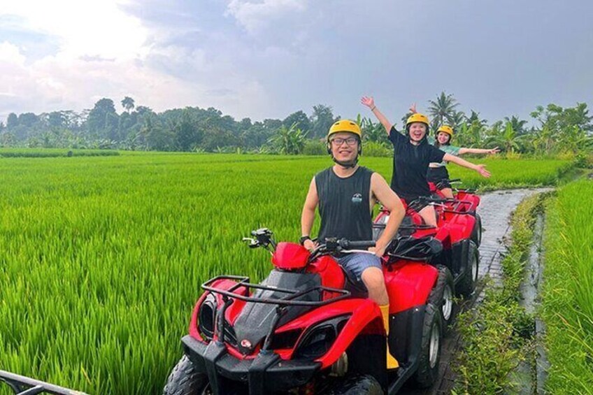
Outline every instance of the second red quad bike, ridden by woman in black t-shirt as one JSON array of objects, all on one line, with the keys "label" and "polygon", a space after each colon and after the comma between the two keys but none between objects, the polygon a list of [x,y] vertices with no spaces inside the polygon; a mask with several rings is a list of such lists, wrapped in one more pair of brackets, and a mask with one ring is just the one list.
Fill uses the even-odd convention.
[{"label": "second red quad bike, ridden by woman in black t-shirt", "polygon": [[[446,206],[443,199],[421,198],[437,206],[437,226],[430,227],[422,221],[422,217],[414,210],[414,203],[406,207],[406,216],[398,230],[398,237],[409,238],[433,237],[441,243],[442,250],[434,254],[429,263],[438,268],[439,282],[443,283],[442,296],[437,300],[441,309],[444,332],[446,333],[455,320],[457,306],[454,296],[470,296],[476,289],[478,280],[478,262],[480,255],[478,246],[473,240],[476,228],[476,217],[464,211]],[[378,240],[385,229],[390,213],[381,209],[373,221],[373,239]]]}]

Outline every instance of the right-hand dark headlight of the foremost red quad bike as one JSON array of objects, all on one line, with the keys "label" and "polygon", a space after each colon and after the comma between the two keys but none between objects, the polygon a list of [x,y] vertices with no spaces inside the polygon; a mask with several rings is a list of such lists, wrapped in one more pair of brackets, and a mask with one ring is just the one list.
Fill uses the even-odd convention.
[{"label": "right-hand dark headlight of the foremost red quad bike", "polygon": [[334,344],[348,319],[350,315],[342,315],[312,326],[296,346],[294,357],[302,359],[321,357]]}]

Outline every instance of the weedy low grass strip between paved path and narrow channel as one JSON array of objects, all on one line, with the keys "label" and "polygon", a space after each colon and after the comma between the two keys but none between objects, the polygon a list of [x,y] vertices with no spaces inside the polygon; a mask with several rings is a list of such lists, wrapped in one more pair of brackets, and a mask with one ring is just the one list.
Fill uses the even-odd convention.
[{"label": "weedy low grass strip between paved path and narrow channel", "polygon": [[501,284],[488,284],[477,308],[459,315],[457,327],[464,348],[457,357],[455,394],[516,390],[510,373],[529,355],[534,331],[534,317],[519,305],[520,285],[542,199],[541,194],[531,196],[517,206],[511,220],[510,245],[501,262]]}]

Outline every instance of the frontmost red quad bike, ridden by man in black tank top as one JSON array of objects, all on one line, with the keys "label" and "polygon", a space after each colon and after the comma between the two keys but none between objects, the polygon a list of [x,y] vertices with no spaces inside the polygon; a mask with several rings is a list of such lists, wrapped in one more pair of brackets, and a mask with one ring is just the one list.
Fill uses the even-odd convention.
[{"label": "frontmost red quad bike, ridden by man in black tank top", "polygon": [[[272,252],[274,268],[259,284],[221,275],[206,281],[197,301],[184,356],[164,395],[180,394],[394,394],[413,378],[436,380],[442,321],[434,299],[438,269],[400,252],[431,257],[433,238],[392,243],[384,268],[390,298],[391,353],[378,305],[349,280],[331,254],[374,245],[326,240],[309,252],[276,243],[268,229],[252,231],[250,247]],[[436,250],[435,250],[436,248]],[[425,259],[426,260],[426,259]]]}]

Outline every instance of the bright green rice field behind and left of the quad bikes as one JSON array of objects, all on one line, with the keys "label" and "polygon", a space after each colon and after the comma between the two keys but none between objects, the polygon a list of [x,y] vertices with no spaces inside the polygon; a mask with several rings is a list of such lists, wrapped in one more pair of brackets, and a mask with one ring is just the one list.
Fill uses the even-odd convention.
[{"label": "bright green rice field behind and left of the quad bikes", "polygon": [[[452,178],[554,185],[571,167],[479,162],[492,178],[451,165]],[[389,180],[391,159],[362,164]],[[269,227],[297,240],[310,179],[327,166],[328,157],[258,155],[1,157],[0,369],[91,394],[159,393],[199,285],[222,273],[261,279],[269,255],[241,237]]]}]

